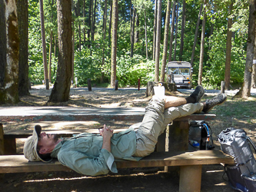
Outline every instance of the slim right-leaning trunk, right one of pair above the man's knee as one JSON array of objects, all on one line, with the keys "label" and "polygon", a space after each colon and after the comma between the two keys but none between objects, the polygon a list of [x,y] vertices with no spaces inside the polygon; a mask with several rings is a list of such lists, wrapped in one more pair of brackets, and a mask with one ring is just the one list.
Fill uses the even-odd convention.
[{"label": "slim right-leaning trunk, right one of pair above the man's knee", "polygon": [[163,58],[161,61],[161,75],[160,75],[161,82],[165,82],[165,66],[166,66],[166,58],[167,58],[167,50],[168,50],[170,13],[171,13],[171,2],[170,2],[170,0],[168,0],[167,7],[166,7],[166,18],[165,18],[164,51],[163,51]]}]

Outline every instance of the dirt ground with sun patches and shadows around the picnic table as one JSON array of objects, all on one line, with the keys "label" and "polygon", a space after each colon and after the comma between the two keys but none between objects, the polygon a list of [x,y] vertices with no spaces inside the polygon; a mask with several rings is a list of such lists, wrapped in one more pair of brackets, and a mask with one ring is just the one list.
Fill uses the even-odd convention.
[{"label": "dirt ground with sun patches and shadows around the picnic table", "polygon": [[[71,88],[70,100],[65,103],[48,103],[50,90],[42,86],[33,86],[29,96],[21,98],[15,106],[69,106],[69,107],[142,107],[144,108],[149,98],[145,97],[145,88],[138,91],[137,88],[119,88],[114,91],[110,88]],[[193,91],[193,90],[192,90]],[[187,97],[189,91],[175,91],[171,95]],[[206,91],[204,99],[213,98],[218,91]],[[228,94],[228,101],[214,108],[211,113],[217,114],[215,121],[209,121],[213,131],[214,146],[220,148],[217,141],[218,134],[227,127],[243,128],[247,131],[252,141],[256,141],[256,98],[253,95],[248,99],[234,98],[233,93]],[[3,106],[3,105],[2,105]],[[8,107],[10,105],[4,105]],[[111,125],[112,128],[129,127],[136,122],[124,121],[87,121],[87,122],[35,122],[42,124],[44,129],[72,129],[95,128],[102,124]],[[9,122],[4,124],[6,129],[33,129],[35,124],[21,124]],[[22,154],[24,139],[19,139],[18,153]],[[108,176],[86,177],[73,171],[67,172],[41,172],[25,174],[5,174],[1,176],[0,185],[2,191],[178,191],[178,173],[164,172],[158,168],[124,169],[118,174]],[[228,177],[224,175],[224,167],[221,165],[203,166],[201,191],[234,191],[228,185]]]}]

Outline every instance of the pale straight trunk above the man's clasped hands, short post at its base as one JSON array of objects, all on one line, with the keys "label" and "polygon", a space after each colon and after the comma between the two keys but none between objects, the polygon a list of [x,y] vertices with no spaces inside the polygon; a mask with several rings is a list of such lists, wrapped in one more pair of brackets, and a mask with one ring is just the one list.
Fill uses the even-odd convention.
[{"label": "pale straight trunk above the man's clasped hands, short post at its base", "polygon": [[118,0],[112,2],[112,32],[111,32],[111,88],[115,88],[116,80],[116,51],[118,32]]}]

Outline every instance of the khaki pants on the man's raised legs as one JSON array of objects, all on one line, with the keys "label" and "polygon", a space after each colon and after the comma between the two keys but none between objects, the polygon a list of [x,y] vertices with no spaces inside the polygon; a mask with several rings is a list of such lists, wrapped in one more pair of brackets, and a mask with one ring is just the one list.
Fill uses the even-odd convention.
[{"label": "khaki pants on the man's raised legs", "polygon": [[165,131],[172,120],[201,112],[203,107],[202,103],[196,103],[165,109],[164,99],[153,96],[145,109],[143,121],[131,126],[136,131],[136,152],[134,156],[145,157],[151,154],[155,151],[158,136]]}]

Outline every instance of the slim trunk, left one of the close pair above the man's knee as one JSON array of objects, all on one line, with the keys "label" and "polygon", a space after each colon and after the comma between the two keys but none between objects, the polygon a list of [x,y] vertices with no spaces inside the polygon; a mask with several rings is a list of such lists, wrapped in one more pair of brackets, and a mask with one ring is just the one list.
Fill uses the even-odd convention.
[{"label": "slim trunk, left one of the close pair above the man's knee", "polygon": [[161,41],[161,1],[158,1],[158,19],[157,19],[156,41],[155,41],[155,82],[159,80],[160,41]]}]

